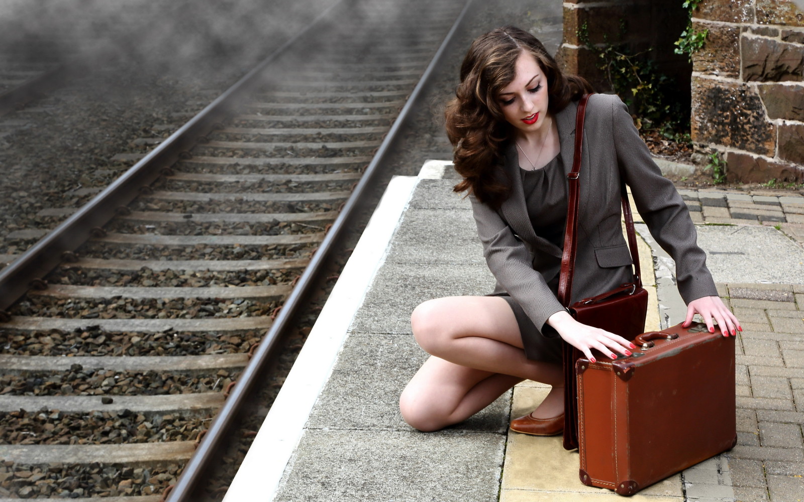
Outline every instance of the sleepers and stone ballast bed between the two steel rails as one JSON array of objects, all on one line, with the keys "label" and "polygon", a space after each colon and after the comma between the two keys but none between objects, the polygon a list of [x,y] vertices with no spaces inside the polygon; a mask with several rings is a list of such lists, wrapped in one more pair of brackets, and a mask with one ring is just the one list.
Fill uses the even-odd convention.
[{"label": "sleepers and stone ballast bed between the two steel rails", "polygon": [[359,42],[261,71],[197,145],[31,277],[0,323],[0,499],[162,498],[462,6],[333,9],[311,38]]}]

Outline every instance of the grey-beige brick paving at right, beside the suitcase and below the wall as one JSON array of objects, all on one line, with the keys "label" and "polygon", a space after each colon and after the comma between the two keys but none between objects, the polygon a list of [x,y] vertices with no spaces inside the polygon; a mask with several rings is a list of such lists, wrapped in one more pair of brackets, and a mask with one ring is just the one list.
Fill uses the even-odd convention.
[{"label": "grey-beige brick paving at right, beside the suitcase and below the wall", "polygon": [[[804,243],[804,196],[782,190],[679,193],[696,223],[771,225]],[[732,484],[736,500],[804,500],[802,284],[719,285],[744,331],[736,344],[737,446],[724,455],[728,466],[713,463],[712,473],[720,484]]]}]

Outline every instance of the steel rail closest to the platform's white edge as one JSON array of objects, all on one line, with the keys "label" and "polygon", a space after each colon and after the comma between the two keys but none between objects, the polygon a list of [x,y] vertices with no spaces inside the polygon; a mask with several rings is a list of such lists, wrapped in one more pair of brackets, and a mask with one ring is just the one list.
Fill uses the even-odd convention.
[{"label": "steel rail closest to the platform's white edge", "polygon": [[392,124],[391,129],[388,131],[388,136],[386,136],[382,144],[379,145],[377,153],[371,159],[371,162],[363,173],[363,178],[361,178],[357,186],[355,186],[355,190],[352,191],[350,198],[348,198],[346,204],[343,206],[343,210],[341,210],[340,214],[338,214],[338,218],[333,222],[330,231],[327,232],[324,240],[318,247],[318,251],[315,252],[313,258],[310,260],[310,264],[301,274],[297,286],[293,288],[290,296],[285,300],[285,304],[279,311],[277,319],[274,320],[271,329],[269,329],[269,332],[265,335],[263,340],[260,341],[260,345],[257,347],[251,361],[248,362],[243,372],[240,373],[240,377],[232,390],[232,394],[229,395],[224,407],[219,410],[219,413],[212,421],[209,431],[207,431],[207,434],[204,435],[201,443],[199,443],[195,454],[184,466],[182,475],[179,476],[174,488],[170,491],[170,495],[165,499],[165,502],[191,502],[195,488],[197,488],[197,484],[201,481],[207,468],[210,467],[210,463],[218,459],[218,457],[215,456],[215,452],[222,446],[221,443],[226,437],[228,429],[235,422],[238,411],[246,403],[248,394],[255,385],[257,377],[260,375],[265,365],[272,360],[274,353],[281,349],[280,344],[283,340],[281,333],[292,324],[293,315],[297,312],[298,308],[300,308],[301,300],[306,297],[309,289],[315,284],[319,272],[326,264],[326,259],[330,251],[332,251],[338,238],[346,229],[346,223],[351,217],[351,214],[359,208],[363,193],[369,187],[371,178],[375,176],[375,173],[379,170],[379,165],[384,161],[384,158],[391,150],[393,143],[396,141],[396,136],[400,133],[408,115],[414,106],[418,104],[420,96],[429,84],[429,80],[431,76],[433,76],[433,73],[435,73],[439,63],[441,63],[441,59],[447,51],[449,43],[451,43],[454,35],[461,27],[463,19],[466,17],[466,13],[469,11],[472,2],[473,0],[466,1],[463,10],[458,14],[455,22],[453,22],[453,26],[445,36],[445,39],[441,42],[441,46],[436,51],[436,54],[433,55],[433,59],[422,74],[419,83],[416,84],[416,88],[411,92],[407,103],[404,104],[404,107],[400,110],[399,116],[397,116],[394,124]]}]

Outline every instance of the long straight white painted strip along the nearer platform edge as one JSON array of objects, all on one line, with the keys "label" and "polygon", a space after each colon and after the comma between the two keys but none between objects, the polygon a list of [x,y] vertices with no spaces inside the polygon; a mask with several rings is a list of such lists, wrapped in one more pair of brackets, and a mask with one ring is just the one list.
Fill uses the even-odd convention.
[{"label": "long straight white painted strip along the nearer platform edge", "polygon": [[352,320],[385,261],[392,236],[419,179],[396,176],[388,183],[232,480],[224,502],[269,501],[276,496],[285,467],[301,440],[318,394],[330,378]]}]

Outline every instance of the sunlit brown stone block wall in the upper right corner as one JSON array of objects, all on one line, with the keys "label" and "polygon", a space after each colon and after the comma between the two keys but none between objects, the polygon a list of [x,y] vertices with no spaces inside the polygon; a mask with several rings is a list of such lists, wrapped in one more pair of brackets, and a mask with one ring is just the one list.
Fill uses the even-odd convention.
[{"label": "sunlit brown stone block wall in the upper right corner", "polygon": [[804,181],[804,11],[790,0],[703,0],[692,56],[692,140],[729,181]]}]

